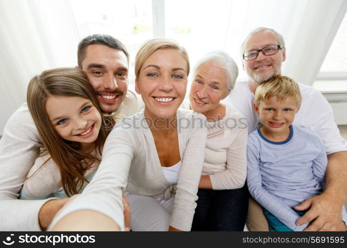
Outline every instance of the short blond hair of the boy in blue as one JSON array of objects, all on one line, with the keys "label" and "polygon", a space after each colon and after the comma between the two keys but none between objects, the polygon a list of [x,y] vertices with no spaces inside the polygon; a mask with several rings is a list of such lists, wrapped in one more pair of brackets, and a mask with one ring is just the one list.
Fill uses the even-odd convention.
[{"label": "short blond hair of the boy in blue", "polygon": [[300,106],[302,101],[299,85],[287,76],[275,76],[261,83],[255,91],[253,103],[259,106],[260,102],[267,102],[273,96],[280,101],[292,97],[297,106]]}]

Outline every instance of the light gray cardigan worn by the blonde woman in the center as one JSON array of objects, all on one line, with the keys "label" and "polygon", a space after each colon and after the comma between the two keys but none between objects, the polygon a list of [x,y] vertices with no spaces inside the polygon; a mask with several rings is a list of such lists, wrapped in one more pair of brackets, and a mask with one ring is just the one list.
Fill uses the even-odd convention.
[{"label": "light gray cardigan worn by the blonde woman in the center", "polygon": [[[190,231],[204,162],[205,116],[190,110],[177,111],[181,169],[175,191],[170,225]],[[128,177],[129,176],[129,177]],[[126,181],[128,177],[128,183]],[[166,180],[153,135],[143,113],[122,119],[106,140],[102,162],[92,182],[53,221],[75,210],[101,212],[124,228],[121,188],[134,194],[168,198],[173,186]]]}]

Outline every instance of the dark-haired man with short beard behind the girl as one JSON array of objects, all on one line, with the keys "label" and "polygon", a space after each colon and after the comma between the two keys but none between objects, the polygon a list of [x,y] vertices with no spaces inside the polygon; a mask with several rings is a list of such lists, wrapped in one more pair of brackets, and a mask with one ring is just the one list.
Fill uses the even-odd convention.
[{"label": "dark-haired man with short beard behind the girl", "polygon": [[[101,110],[116,121],[143,108],[127,90],[129,55],[112,36],[92,35],[78,45],[78,67],[86,72]],[[0,140],[0,230],[45,230],[67,199],[18,200],[18,192],[42,148],[38,131],[24,103],[7,121]],[[15,221],[14,221],[15,220]]]}]

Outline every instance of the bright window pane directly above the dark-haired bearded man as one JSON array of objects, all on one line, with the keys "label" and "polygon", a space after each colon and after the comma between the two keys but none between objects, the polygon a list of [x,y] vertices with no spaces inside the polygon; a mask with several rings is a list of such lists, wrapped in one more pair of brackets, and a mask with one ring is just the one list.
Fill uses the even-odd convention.
[{"label": "bright window pane directly above the dark-haired bearded man", "polygon": [[153,37],[152,1],[70,0],[70,4],[80,39],[108,34],[126,45],[130,56],[129,82],[133,83],[136,52]]}]

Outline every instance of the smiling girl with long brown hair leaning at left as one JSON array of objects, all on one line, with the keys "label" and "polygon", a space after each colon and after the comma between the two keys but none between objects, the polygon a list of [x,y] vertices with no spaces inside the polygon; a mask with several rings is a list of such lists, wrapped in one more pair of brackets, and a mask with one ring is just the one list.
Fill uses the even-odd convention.
[{"label": "smiling girl with long brown hair leaning at left", "polygon": [[27,102],[45,148],[29,171],[20,198],[80,193],[98,168],[113,119],[103,117],[93,87],[76,68],[35,76],[28,85]]}]

